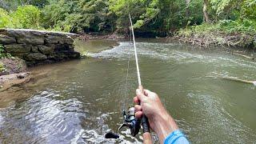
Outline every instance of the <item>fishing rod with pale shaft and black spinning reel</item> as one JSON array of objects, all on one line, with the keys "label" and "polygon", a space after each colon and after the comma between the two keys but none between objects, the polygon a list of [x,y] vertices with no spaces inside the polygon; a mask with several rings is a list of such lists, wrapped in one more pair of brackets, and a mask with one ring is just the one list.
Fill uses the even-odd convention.
[{"label": "fishing rod with pale shaft and black spinning reel", "polygon": [[[131,32],[133,35],[133,41],[134,41],[134,55],[135,55],[136,69],[137,69],[137,76],[138,76],[138,89],[143,91],[142,80],[141,80],[139,66],[138,66],[138,54],[137,54],[135,37],[134,37],[134,27],[133,27],[133,22],[131,20],[130,14],[129,14],[129,18],[130,18],[130,29],[131,29]],[[122,115],[124,118],[124,122],[122,126],[118,128],[118,131],[120,131],[123,127],[127,127],[130,129],[130,134],[135,137],[138,134],[142,125],[143,142],[146,144],[152,143],[152,139],[150,135],[150,124],[149,124],[148,118],[146,118],[146,115],[143,114],[141,119],[136,118],[134,106],[129,108],[128,114],[126,114],[126,110],[123,110]],[[105,138],[119,138],[119,135],[113,132],[109,132],[105,135]]]}]

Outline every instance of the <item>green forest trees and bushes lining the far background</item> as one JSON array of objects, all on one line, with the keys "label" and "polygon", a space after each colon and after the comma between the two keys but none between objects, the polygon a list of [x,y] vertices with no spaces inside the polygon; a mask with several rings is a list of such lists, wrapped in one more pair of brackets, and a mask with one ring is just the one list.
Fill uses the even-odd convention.
[{"label": "green forest trees and bushes lining the far background", "polygon": [[0,27],[77,34],[256,34],[256,0],[0,0]]}]

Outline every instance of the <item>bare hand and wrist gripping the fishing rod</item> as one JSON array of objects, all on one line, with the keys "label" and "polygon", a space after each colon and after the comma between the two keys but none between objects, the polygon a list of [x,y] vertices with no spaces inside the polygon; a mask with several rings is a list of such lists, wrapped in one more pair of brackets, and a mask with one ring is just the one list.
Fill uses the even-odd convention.
[{"label": "bare hand and wrist gripping the fishing rod", "polygon": [[[145,114],[149,119],[150,128],[158,134],[160,142],[163,142],[172,131],[178,130],[177,124],[162,105],[158,94],[150,90],[143,90],[141,86],[136,90],[134,102],[137,103],[134,106],[136,118],[142,118],[142,114]],[[139,103],[140,105],[138,105]]]}]

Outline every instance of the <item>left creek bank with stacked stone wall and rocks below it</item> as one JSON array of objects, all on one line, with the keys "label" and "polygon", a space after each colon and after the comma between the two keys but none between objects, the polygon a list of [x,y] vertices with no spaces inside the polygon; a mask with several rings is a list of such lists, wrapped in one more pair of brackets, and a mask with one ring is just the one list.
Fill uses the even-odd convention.
[{"label": "left creek bank with stacked stone wall and rocks below it", "polygon": [[33,74],[27,66],[63,62],[81,58],[74,50],[78,34],[45,30],[0,29],[0,46],[5,58],[0,59],[0,91],[30,82]]}]

